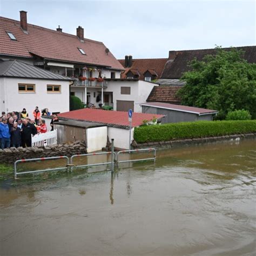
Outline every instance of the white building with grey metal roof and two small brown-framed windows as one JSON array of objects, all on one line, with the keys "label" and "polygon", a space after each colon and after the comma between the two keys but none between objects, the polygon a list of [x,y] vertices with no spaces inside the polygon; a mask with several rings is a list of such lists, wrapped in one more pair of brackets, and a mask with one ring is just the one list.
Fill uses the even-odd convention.
[{"label": "white building with grey metal roof and two small brown-framed windows", "polygon": [[0,110],[23,108],[32,117],[35,106],[50,112],[69,111],[72,79],[17,60],[0,62]]}]

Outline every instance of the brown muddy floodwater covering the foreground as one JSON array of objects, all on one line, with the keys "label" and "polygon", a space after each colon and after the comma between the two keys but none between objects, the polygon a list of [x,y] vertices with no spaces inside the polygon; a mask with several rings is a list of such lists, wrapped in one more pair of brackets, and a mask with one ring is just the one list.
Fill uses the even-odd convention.
[{"label": "brown muddy floodwater covering the foreground", "polygon": [[155,165],[113,174],[5,181],[0,255],[255,255],[255,162],[250,140],[158,151]]}]

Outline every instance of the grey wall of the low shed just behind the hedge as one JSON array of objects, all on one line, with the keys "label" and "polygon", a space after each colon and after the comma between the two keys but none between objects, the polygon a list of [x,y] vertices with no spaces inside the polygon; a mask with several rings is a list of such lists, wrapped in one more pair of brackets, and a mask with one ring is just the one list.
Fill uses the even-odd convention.
[{"label": "grey wall of the low shed just behind the hedge", "polygon": [[142,106],[143,113],[164,114],[161,119],[162,124],[178,123],[178,122],[194,122],[194,121],[211,121],[212,115],[198,116],[198,114],[174,111],[168,109],[159,109],[158,107]]}]

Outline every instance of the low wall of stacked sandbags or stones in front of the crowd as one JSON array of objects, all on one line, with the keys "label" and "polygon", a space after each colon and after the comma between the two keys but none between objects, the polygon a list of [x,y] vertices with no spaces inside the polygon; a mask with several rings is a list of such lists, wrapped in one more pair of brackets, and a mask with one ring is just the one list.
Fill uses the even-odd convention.
[{"label": "low wall of stacked sandbags or stones in front of the crowd", "polygon": [[0,149],[0,163],[12,164],[19,159],[41,158],[41,157],[70,157],[73,154],[85,154],[86,144],[84,141],[77,141],[72,144],[56,144],[38,147],[10,147]]}]

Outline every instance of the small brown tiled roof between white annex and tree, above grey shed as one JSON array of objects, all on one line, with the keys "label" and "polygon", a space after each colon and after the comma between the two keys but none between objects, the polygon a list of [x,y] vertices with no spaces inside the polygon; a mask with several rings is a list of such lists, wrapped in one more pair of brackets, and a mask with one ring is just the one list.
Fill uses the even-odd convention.
[{"label": "small brown tiled roof between white annex and tree, above grey shed", "polygon": [[180,88],[181,86],[154,86],[146,101],[180,104],[181,99],[176,96]]}]

